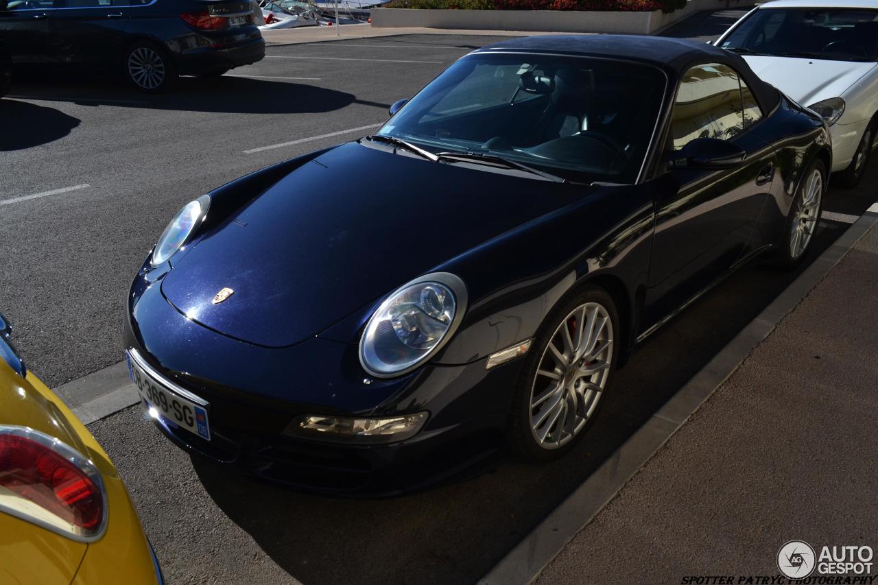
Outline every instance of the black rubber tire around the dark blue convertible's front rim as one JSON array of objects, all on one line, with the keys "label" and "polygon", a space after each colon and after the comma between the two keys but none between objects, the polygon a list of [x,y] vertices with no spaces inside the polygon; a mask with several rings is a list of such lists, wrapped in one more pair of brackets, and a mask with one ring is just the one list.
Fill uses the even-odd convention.
[{"label": "black rubber tire around the dark blue convertible's front rim", "polygon": [[[546,355],[546,352],[550,351],[548,349],[549,343],[553,340],[556,343],[564,343],[563,339],[561,342],[558,342],[558,336],[563,335],[562,333],[558,333],[561,325],[567,323],[568,331],[572,330],[569,329],[571,326],[575,329],[576,320],[570,319],[572,313],[584,305],[590,307],[592,304],[603,307],[609,320],[609,340],[611,343],[608,344],[608,347],[610,350],[608,356],[604,355],[603,360],[600,362],[601,365],[608,364],[605,367],[606,374],[604,374],[602,378],[603,391],[601,393],[592,394],[593,396],[597,396],[597,400],[594,401],[594,406],[588,406],[591,403],[588,400],[585,400],[584,395],[579,396],[579,400],[572,403],[568,402],[567,398],[557,399],[559,401],[567,402],[567,408],[565,408],[563,415],[564,418],[567,417],[567,414],[570,411],[570,404],[575,405],[576,408],[574,408],[574,410],[577,412],[580,411],[580,408],[582,412],[588,410],[588,415],[585,417],[584,422],[575,423],[575,428],[573,428],[573,426],[568,427],[574,430],[572,434],[569,432],[567,433],[569,438],[564,439],[564,431],[558,430],[557,427],[553,427],[556,428],[556,430],[548,430],[547,432],[549,432],[549,435],[551,436],[558,433],[558,436],[562,438],[554,442],[547,440],[541,444],[537,437],[537,433],[540,432],[540,430],[535,430],[535,425],[532,424],[532,420],[535,415],[541,415],[542,410],[540,407],[532,406],[533,394],[536,394],[536,397],[546,394],[546,390],[550,385],[572,385],[575,383],[574,379],[576,374],[573,374],[573,378],[570,378],[569,382],[567,375],[563,375],[556,382],[552,382],[551,379],[546,378],[544,374],[540,374],[539,379],[537,379],[537,372],[541,371],[541,365],[543,365],[543,369],[547,367],[549,362],[545,360],[552,360],[551,355]],[[588,315],[586,315],[586,317],[588,318]],[[582,321],[582,319],[579,319],[579,321]],[[588,427],[591,426],[594,422],[595,416],[598,414],[601,403],[603,402],[603,400],[601,400],[602,395],[606,392],[615,372],[619,351],[622,349],[621,344],[620,347],[616,347],[616,344],[619,344],[621,339],[621,329],[619,325],[619,314],[615,307],[613,298],[606,291],[594,285],[582,286],[575,293],[568,296],[567,299],[559,302],[558,305],[551,310],[551,313],[546,317],[545,321],[543,321],[543,325],[540,327],[534,338],[528,357],[525,358],[526,363],[522,367],[522,373],[515,385],[515,394],[513,394],[512,408],[509,413],[509,422],[507,425],[507,444],[510,451],[512,451],[515,456],[520,459],[534,462],[551,461],[562,457],[585,436]],[[601,343],[606,343],[606,339]],[[597,343],[597,345],[600,346],[601,343]],[[590,364],[595,363],[598,363],[598,360],[590,362]],[[587,365],[588,364],[589,363],[587,363]],[[603,371],[604,370],[601,370],[601,372]],[[557,372],[557,370],[555,372]],[[598,378],[600,379],[600,377]],[[545,387],[543,387],[543,383],[545,383]],[[560,392],[563,396],[571,396],[569,400],[573,400],[572,394],[565,394],[567,393],[566,390],[562,389]],[[558,394],[555,393],[553,396],[554,395]],[[548,403],[553,400],[555,399],[547,399],[543,404],[547,404],[548,406]],[[558,415],[558,418],[562,418],[562,416]],[[581,426],[579,426],[579,424],[581,424]],[[541,429],[544,430],[545,427],[543,426]],[[551,439],[551,437],[546,438]],[[566,442],[564,442],[565,440]]]}]

